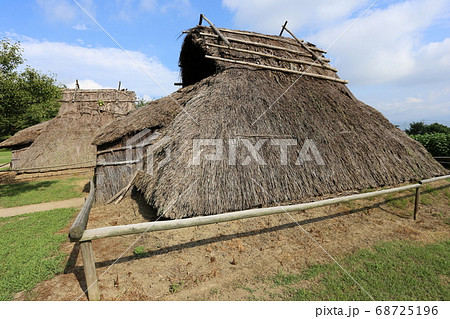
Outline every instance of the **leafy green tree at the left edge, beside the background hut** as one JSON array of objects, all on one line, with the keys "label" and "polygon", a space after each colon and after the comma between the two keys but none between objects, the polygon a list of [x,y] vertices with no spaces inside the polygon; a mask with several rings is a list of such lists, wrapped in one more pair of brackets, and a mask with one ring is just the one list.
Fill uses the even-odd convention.
[{"label": "leafy green tree at the left edge, beside the background hut", "polygon": [[0,141],[56,116],[61,86],[54,75],[41,74],[24,63],[20,43],[0,42]]}]

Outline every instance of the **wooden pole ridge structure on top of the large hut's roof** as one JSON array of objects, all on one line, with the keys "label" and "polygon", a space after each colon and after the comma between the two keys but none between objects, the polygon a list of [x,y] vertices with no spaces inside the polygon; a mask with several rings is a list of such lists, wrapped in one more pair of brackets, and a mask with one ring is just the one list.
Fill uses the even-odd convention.
[{"label": "wooden pole ridge structure on top of the large hut's roof", "polygon": [[[209,23],[210,28],[201,25],[203,20]],[[199,31],[197,36],[200,37],[200,41],[208,48],[208,52],[205,54],[206,59],[348,83],[336,76],[337,69],[328,64],[330,60],[323,56],[326,53],[324,50],[297,38],[286,27],[286,24],[287,22],[283,25],[282,32],[288,32],[292,39],[281,37],[281,34],[280,36],[270,36],[249,31],[217,28],[203,14],[200,15],[199,25],[196,29]],[[184,32],[191,33],[192,29]],[[218,42],[215,43],[214,41],[217,40]],[[233,52],[240,54],[236,56]]]}]

